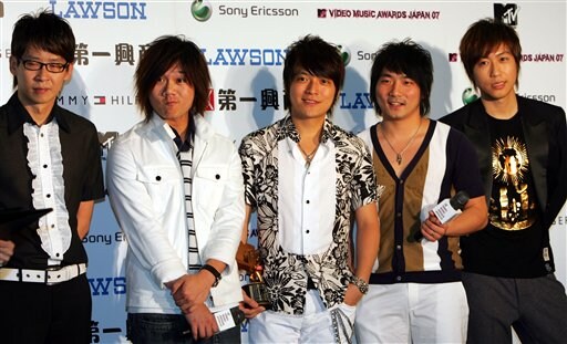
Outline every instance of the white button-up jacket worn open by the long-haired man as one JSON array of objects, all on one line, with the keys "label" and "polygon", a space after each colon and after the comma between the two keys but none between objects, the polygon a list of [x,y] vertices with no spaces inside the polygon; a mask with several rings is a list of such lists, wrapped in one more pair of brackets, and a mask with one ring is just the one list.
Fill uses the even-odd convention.
[{"label": "white button-up jacket worn open by the long-haired man", "polygon": [[[240,158],[235,145],[200,116],[195,121],[193,211],[203,262],[227,264],[216,288],[214,307],[241,300],[235,256],[244,221]],[[121,135],[109,153],[109,199],[124,231],[126,311],[181,313],[164,283],[187,273],[187,218],[183,174],[171,127],[154,113]]]}]

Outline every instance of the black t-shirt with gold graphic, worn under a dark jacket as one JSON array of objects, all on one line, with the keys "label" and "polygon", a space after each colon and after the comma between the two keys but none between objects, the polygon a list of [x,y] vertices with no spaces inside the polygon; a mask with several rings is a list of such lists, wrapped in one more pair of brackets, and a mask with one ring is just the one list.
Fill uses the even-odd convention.
[{"label": "black t-shirt with gold graphic, worn under a dark jacket", "polygon": [[488,115],[493,187],[486,229],[462,238],[465,271],[504,278],[534,278],[554,270],[542,228],[520,114]]}]

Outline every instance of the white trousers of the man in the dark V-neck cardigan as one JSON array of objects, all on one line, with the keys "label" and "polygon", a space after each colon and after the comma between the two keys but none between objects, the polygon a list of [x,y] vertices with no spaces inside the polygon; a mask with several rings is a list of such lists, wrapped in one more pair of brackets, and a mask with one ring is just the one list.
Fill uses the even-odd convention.
[{"label": "white trousers of the man in the dark V-neck cardigan", "polygon": [[461,282],[372,284],[357,306],[358,343],[465,343]]}]

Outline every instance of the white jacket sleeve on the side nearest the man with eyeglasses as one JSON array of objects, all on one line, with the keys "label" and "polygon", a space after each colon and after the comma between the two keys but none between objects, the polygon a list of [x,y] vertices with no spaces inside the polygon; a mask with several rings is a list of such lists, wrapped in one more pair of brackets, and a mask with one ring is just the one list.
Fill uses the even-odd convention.
[{"label": "white jacket sleeve on the side nearest the man with eyeglasses", "polygon": [[186,273],[152,207],[128,142],[114,144],[106,160],[106,185],[112,210],[126,236],[128,249],[161,288]]}]

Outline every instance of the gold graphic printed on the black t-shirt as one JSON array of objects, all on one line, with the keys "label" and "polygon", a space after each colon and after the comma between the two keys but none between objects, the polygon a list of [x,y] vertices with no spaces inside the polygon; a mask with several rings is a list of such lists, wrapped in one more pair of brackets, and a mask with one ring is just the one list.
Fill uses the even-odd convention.
[{"label": "gold graphic printed on the black t-shirt", "polygon": [[491,223],[504,230],[523,230],[536,220],[536,198],[528,181],[526,145],[506,136],[492,147],[493,195],[488,209]]}]

